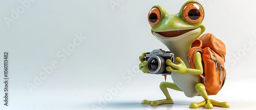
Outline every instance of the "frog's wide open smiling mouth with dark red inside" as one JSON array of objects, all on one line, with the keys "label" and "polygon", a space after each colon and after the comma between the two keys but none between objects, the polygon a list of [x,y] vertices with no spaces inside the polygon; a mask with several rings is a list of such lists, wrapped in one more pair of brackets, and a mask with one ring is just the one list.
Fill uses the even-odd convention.
[{"label": "frog's wide open smiling mouth with dark red inside", "polygon": [[194,29],[188,29],[188,30],[178,30],[178,31],[166,31],[166,32],[156,32],[164,37],[177,37],[180,36],[182,34],[185,34],[189,31],[192,31]]}]

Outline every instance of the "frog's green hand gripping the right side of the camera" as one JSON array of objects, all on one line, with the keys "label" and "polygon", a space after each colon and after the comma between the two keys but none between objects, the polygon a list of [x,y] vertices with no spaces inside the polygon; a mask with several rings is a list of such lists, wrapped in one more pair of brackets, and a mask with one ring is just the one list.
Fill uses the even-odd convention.
[{"label": "frog's green hand gripping the right side of the camera", "polygon": [[182,74],[187,73],[186,64],[182,61],[182,59],[180,57],[176,57],[175,59],[179,62],[179,64],[175,64],[169,59],[166,60],[166,64],[169,65],[166,67],[166,71],[182,73]]}]

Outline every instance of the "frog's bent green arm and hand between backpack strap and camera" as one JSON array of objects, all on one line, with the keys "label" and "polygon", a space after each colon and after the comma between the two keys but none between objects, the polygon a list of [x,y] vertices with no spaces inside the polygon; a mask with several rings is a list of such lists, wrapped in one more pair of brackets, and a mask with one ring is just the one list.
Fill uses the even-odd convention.
[{"label": "frog's bent green arm and hand between backpack strap and camera", "polygon": [[[194,55],[194,64],[196,69],[189,69],[186,67],[186,64],[182,61],[180,57],[176,57],[176,60],[179,62],[179,64],[175,64],[169,59],[166,60],[166,64],[169,65],[166,67],[166,70],[168,72],[177,72],[177,73],[191,73],[195,75],[203,74],[203,64],[202,64],[202,58],[200,52],[196,52]],[[173,67],[173,68],[172,68]]]}]

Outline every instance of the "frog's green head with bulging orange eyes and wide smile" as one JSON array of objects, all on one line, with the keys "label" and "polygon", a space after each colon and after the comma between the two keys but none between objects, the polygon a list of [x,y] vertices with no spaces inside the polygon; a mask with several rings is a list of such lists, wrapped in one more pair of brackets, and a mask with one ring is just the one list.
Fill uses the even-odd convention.
[{"label": "frog's green head with bulging orange eyes and wide smile", "polygon": [[177,14],[169,14],[162,6],[155,5],[148,13],[151,32],[170,51],[188,52],[191,43],[205,31],[204,9],[197,1],[188,1]]}]

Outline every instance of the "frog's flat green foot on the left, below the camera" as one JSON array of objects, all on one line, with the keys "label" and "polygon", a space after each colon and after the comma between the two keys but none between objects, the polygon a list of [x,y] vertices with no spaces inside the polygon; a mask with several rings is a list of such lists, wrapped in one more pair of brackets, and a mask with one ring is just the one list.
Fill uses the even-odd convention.
[{"label": "frog's flat green foot on the left, below the camera", "polygon": [[150,104],[152,106],[157,106],[160,104],[173,104],[174,101],[172,99],[162,99],[162,100],[155,100],[155,101],[150,101],[150,100],[143,100],[142,104]]}]

